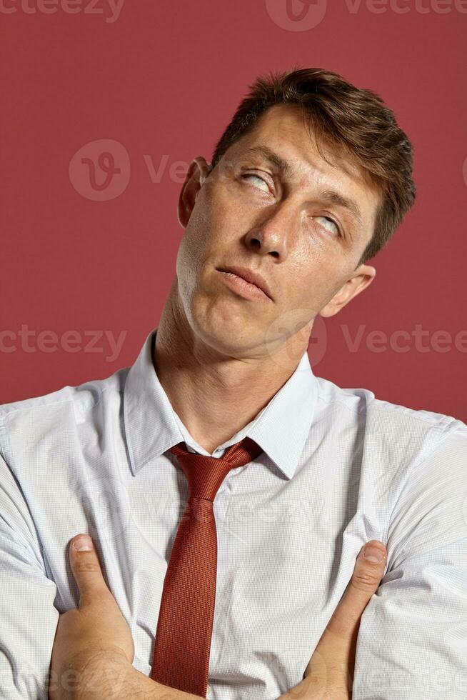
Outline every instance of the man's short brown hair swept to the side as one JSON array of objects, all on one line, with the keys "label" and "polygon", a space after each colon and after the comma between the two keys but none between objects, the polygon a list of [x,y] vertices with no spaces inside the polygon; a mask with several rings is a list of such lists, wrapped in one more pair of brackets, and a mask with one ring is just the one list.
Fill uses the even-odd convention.
[{"label": "man's short brown hair swept to the side", "polygon": [[[396,118],[372,90],[358,89],[342,76],[319,68],[271,72],[249,85],[229,126],[216,144],[211,170],[229,146],[252,131],[258,117],[276,104],[298,104],[313,129],[316,144],[345,149],[381,192],[375,229],[358,265],[389,241],[416,196],[412,180],[413,148]],[[326,160],[326,159],[325,159]]]}]

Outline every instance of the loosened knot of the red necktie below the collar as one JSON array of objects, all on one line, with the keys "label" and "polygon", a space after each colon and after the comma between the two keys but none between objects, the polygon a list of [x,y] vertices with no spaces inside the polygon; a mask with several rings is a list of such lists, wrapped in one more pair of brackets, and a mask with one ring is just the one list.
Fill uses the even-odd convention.
[{"label": "loosened knot of the red necktie below the collar", "polygon": [[214,501],[219,487],[231,469],[248,464],[262,451],[261,447],[248,437],[231,445],[222,457],[189,452],[185,442],[179,442],[169,449],[169,452],[176,455],[188,480],[189,496],[206,501]]}]

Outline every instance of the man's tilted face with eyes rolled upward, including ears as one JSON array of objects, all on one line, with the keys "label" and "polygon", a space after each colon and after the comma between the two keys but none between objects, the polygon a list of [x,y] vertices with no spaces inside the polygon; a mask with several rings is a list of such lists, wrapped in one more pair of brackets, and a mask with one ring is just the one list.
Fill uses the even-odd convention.
[{"label": "man's tilted face with eyes rolled upward, including ears", "polygon": [[[349,161],[324,154],[331,165],[301,110],[276,105],[211,173],[203,158],[192,161],[176,274],[189,325],[217,350],[255,356],[298,332],[307,338],[316,314],[336,314],[373,280],[373,267],[356,264],[378,193]],[[219,271],[226,266],[261,274],[271,298],[246,299]]]}]

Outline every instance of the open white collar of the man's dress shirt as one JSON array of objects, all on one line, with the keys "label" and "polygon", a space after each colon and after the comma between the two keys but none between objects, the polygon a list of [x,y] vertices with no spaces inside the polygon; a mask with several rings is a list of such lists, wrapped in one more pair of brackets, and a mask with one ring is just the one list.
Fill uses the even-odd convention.
[{"label": "open white collar of the man's dress shirt", "polygon": [[[209,455],[191,437],[159,381],[152,359],[156,333],[153,329],[146,337],[124,388],[124,426],[133,474],[181,441],[191,451]],[[248,436],[291,479],[308,437],[317,394],[318,382],[305,351],[286,384],[250,423],[219,445],[214,456]]]}]

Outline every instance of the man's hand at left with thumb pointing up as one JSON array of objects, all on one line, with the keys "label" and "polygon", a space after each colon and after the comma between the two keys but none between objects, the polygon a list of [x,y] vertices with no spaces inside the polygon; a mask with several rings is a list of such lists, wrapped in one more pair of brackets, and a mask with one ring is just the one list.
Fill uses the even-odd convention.
[{"label": "man's hand at left with thumb pointing up", "polygon": [[82,537],[75,536],[69,546],[71,569],[79,586],[79,608],[59,617],[51,656],[49,700],[79,697],[79,679],[91,661],[102,659],[105,664],[106,659],[118,659],[131,668],[133,664],[131,631],[106,586],[94,547],[90,551],[74,548]]}]

